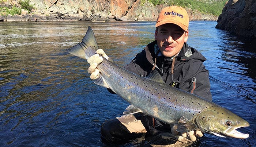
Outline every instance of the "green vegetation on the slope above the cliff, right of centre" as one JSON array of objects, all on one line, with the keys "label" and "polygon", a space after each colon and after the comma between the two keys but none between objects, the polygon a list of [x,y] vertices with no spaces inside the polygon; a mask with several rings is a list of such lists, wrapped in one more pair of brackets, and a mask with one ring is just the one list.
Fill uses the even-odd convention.
[{"label": "green vegetation on the slope above the cliff, right of centre", "polygon": [[148,0],[154,5],[167,4],[191,8],[202,13],[211,13],[219,16],[227,0]]}]

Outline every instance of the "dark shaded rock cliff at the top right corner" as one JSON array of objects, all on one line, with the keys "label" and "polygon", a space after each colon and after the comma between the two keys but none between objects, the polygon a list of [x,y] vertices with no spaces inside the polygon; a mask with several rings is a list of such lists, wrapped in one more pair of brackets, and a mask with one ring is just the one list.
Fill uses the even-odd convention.
[{"label": "dark shaded rock cliff at the top right corner", "polygon": [[229,0],[216,28],[246,38],[256,38],[256,0]]}]

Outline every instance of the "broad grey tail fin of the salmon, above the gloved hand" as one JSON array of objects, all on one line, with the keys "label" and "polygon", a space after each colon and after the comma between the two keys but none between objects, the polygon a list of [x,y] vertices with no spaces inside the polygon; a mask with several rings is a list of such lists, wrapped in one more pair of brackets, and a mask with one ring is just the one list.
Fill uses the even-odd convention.
[{"label": "broad grey tail fin of the salmon, above the gloved hand", "polygon": [[98,50],[98,45],[93,30],[90,26],[88,26],[88,30],[84,35],[82,42],[67,49],[68,53],[83,59],[88,59],[89,57],[94,55],[96,53],[96,50]]}]

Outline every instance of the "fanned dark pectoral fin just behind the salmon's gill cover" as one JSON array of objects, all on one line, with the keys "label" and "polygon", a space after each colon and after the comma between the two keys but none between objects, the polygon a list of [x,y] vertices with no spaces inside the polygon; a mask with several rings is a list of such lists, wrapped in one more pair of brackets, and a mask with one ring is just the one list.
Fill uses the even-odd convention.
[{"label": "fanned dark pectoral fin just behind the salmon's gill cover", "polygon": [[177,128],[178,132],[189,132],[189,131],[195,130],[196,128],[197,126],[189,122],[188,119],[185,118],[184,116],[182,116],[178,121],[178,128]]}]

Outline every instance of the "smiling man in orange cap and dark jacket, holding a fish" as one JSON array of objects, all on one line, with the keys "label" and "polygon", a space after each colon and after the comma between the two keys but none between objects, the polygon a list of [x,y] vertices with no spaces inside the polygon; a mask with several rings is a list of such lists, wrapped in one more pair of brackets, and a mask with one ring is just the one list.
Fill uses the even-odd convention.
[{"label": "smiling man in orange cap and dark jacket, holding a fish", "polygon": [[[148,44],[124,68],[143,77],[157,70],[166,84],[211,101],[208,70],[203,65],[206,58],[186,43],[188,25],[189,17],[184,8],[163,8],[155,24],[155,41]],[[99,49],[97,54],[87,60],[91,64],[88,72],[92,79],[98,78],[97,66],[102,62],[99,55],[110,59]],[[139,113],[106,121],[102,125],[101,138],[103,141],[120,143],[144,135],[146,139],[143,145],[184,146],[196,141],[196,136],[203,136],[199,130],[179,134],[176,129],[177,124],[166,124]]]}]

